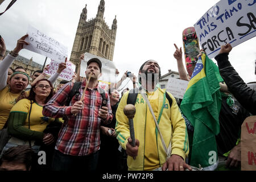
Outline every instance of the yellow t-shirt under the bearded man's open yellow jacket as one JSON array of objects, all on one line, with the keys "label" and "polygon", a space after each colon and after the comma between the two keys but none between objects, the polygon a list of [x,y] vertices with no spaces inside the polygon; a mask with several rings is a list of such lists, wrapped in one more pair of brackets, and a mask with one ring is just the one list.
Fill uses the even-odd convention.
[{"label": "yellow t-shirt under the bearded man's open yellow jacket", "polygon": [[[158,90],[155,92],[147,92],[148,100],[152,110],[154,111],[155,118],[158,115]],[[143,98],[142,98],[143,99]],[[144,101],[147,105],[146,101]],[[150,109],[147,106],[146,115],[146,131],[145,131],[145,151],[144,151],[144,170],[153,170],[160,167],[158,150],[156,146],[156,135],[155,135],[155,121],[152,117]]]}]

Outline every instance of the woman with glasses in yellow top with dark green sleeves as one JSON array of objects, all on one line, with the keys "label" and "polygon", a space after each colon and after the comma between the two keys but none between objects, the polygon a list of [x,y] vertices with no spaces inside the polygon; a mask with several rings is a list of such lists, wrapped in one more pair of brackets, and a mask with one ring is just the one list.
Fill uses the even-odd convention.
[{"label": "woman with glasses in yellow top with dark green sleeves", "polygon": [[[3,151],[18,145],[30,145],[38,152],[40,144],[54,142],[50,133],[43,133],[52,118],[44,117],[43,106],[53,95],[52,84],[42,79],[36,82],[27,98],[18,101],[10,111],[8,130],[12,136]],[[2,152],[3,152],[2,151]]]}]

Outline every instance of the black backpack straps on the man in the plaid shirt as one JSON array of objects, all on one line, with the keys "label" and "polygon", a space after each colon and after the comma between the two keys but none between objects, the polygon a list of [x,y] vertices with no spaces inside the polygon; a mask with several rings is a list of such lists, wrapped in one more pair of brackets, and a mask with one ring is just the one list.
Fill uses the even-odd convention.
[{"label": "black backpack straps on the man in the plaid shirt", "polygon": [[[78,95],[80,94],[79,89],[80,89],[81,84],[82,84],[81,81],[77,81],[77,82],[74,83],[71,92],[69,92],[69,94],[68,94],[68,100],[67,100],[67,102],[65,103],[66,106],[69,105],[69,103],[71,102],[71,100],[72,100],[72,98],[73,98],[74,96],[78,96]],[[108,103],[108,100],[106,99],[105,91],[104,91],[102,88],[100,88],[100,93],[101,93],[101,97],[102,97],[102,104],[101,104],[101,107],[102,107],[102,106],[105,107],[106,104]]]}]

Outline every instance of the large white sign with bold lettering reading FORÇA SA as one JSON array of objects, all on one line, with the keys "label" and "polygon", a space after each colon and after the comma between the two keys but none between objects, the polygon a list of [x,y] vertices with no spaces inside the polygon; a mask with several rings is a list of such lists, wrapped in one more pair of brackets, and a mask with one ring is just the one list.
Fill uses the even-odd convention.
[{"label": "large white sign with bold lettering reading FOR\u00c7A SA", "polygon": [[200,45],[211,59],[256,35],[256,0],[221,0],[194,24]]}]

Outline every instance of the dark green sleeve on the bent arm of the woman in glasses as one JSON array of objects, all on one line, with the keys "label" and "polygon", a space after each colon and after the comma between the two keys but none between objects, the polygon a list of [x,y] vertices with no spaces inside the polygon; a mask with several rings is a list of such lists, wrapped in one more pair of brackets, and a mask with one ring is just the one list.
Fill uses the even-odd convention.
[{"label": "dark green sleeve on the bent arm of the woman in glasses", "polygon": [[13,137],[23,140],[43,140],[44,133],[23,127],[27,113],[11,112],[9,115],[8,131]]}]

